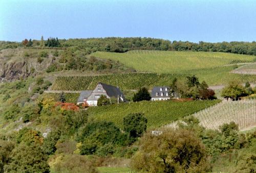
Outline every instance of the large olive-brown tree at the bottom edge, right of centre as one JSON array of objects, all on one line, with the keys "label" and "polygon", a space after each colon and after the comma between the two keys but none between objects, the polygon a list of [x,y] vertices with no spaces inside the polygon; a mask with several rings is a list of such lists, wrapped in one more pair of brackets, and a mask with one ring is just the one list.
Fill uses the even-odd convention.
[{"label": "large olive-brown tree at the bottom edge, right of centre", "polygon": [[131,166],[141,172],[209,172],[210,164],[200,139],[185,129],[146,133]]}]

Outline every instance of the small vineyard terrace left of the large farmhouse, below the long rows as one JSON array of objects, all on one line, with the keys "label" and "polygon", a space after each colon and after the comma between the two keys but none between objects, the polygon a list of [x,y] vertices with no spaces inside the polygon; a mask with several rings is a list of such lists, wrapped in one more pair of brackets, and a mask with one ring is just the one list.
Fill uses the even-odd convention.
[{"label": "small vineyard terrace left of the large farmhouse, below the long rows", "polygon": [[[66,102],[67,103],[77,103],[79,94],[80,93],[75,93],[75,92],[64,92]],[[59,101],[60,93],[49,93],[48,92],[48,93],[44,93],[42,96],[44,98],[52,97],[57,102],[57,101]]]}]

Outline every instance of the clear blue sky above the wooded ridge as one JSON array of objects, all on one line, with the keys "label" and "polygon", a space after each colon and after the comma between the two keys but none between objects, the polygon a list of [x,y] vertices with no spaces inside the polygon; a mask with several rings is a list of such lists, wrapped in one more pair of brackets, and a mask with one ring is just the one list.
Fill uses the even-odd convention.
[{"label": "clear blue sky above the wooded ridge", "polygon": [[0,0],[0,40],[154,37],[256,40],[255,0]]}]

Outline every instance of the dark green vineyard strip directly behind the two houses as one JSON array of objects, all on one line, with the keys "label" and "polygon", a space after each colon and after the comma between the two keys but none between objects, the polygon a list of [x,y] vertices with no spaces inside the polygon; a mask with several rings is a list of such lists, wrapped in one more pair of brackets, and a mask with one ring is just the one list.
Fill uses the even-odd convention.
[{"label": "dark green vineyard strip directly behind the two houses", "polygon": [[98,82],[119,86],[121,89],[138,89],[155,85],[170,85],[172,80],[181,75],[157,73],[125,73],[99,76],[72,76],[57,77],[52,90],[81,91],[92,90]]}]

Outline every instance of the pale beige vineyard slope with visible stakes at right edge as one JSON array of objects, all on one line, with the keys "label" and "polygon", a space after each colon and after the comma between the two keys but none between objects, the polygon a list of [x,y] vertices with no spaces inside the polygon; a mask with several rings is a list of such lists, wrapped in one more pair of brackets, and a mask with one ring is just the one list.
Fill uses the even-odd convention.
[{"label": "pale beige vineyard slope with visible stakes at right edge", "polygon": [[239,129],[256,125],[256,100],[223,101],[194,114],[200,124],[208,129],[218,129],[223,123],[234,121]]}]

